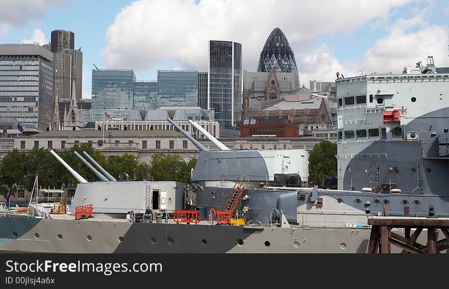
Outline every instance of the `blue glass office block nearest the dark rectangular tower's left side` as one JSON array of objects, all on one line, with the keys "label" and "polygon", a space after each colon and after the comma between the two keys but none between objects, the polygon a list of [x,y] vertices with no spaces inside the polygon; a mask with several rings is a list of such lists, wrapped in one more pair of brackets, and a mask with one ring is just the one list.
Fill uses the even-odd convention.
[{"label": "blue glass office block nearest the dark rectangular tower's left side", "polygon": [[158,70],[158,107],[197,107],[198,71]]}]

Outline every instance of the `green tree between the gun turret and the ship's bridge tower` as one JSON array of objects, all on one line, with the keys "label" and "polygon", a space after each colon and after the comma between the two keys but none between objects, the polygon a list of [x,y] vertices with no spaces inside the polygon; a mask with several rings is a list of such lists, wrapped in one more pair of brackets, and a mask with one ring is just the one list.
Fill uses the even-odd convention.
[{"label": "green tree between the gun turret and the ship's bridge tower", "polygon": [[322,141],[309,153],[309,180],[321,185],[327,175],[337,176],[337,144]]}]

